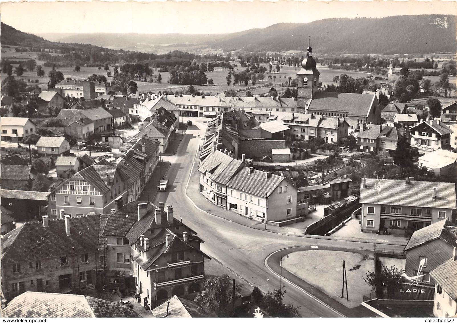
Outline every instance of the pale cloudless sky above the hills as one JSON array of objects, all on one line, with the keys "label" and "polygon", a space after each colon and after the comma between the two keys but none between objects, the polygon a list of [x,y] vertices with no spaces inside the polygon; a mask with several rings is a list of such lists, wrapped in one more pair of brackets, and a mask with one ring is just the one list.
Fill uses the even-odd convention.
[{"label": "pale cloudless sky above the hills", "polygon": [[229,33],[336,17],[457,14],[455,0],[3,2],[1,21],[22,32]]}]

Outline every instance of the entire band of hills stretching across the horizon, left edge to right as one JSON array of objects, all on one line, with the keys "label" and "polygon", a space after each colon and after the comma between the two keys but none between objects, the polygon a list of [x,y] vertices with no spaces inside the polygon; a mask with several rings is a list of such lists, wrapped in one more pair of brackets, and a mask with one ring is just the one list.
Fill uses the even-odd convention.
[{"label": "entire band of hills stretching across the horizon, left edge to right", "polygon": [[[457,17],[452,15],[390,16],[384,18],[329,18],[309,23],[279,23],[266,28],[229,34],[63,34],[53,41],[83,43],[106,48],[138,50],[154,45],[198,45],[243,52],[305,51],[311,36],[313,52],[324,54],[429,54],[455,53]],[[42,36],[45,36],[43,34]],[[43,47],[52,42],[22,33],[2,23],[1,43]],[[138,46],[141,44],[141,46]]]}]

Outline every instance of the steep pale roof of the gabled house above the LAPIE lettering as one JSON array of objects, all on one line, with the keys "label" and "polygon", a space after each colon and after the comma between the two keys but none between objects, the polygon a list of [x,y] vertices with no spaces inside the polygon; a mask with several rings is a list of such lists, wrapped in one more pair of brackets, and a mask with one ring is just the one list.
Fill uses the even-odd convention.
[{"label": "steep pale roof of the gabled house above the LAPIE lettering", "polygon": [[457,239],[455,229],[457,229],[457,227],[454,226],[455,229],[452,230],[447,226],[454,226],[454,224],[451,221],[444,219],[436,223],[433,223],[430,226],[425,226],[422,229],[414,231],[413,235],[409,238],[409,241],[406,244],[404,250],[406,251],[418,247],[424,243],[430,242],[438,238],[442,238],[450,245],[455,246],[455,242]]}]

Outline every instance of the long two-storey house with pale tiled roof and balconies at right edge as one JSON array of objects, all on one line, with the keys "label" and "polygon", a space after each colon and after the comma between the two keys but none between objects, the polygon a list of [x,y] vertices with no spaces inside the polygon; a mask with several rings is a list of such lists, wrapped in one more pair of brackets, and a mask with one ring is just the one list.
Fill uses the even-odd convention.
[{"label": "long two-storey house with pale tiled roof and balconies at right edge", "polygon": [[455,216],[453,183],[361,178],[362,232],[403,233]]}]

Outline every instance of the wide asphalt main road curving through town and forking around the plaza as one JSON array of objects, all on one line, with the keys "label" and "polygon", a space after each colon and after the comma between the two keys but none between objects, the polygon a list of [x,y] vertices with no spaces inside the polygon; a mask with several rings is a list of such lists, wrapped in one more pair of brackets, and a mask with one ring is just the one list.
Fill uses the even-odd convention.
[{"label": "wide asphalt main road curving through town and forking around the plaza", "polygon": [[[240,283],[256,285],[264,292],[278,289],[279,277],[266,268],[264,262],[269,254],[283,248],[315,245],[358,250],[373,249],[372,243],[292,237],[256,230],[198,210],[186,197],[185,190],[198,145],[202,142],[202,138],[197,135],[200,134],[202,137],[206,124],[202,123],[204,118],[191,120],[193,125],[187,130],[176,155],[163,156],[165,161],[171,162],[167,172],[170,189],[159,192],[154,203],[165,202],[165,205],[173,205],[174,216],[177,219],[182,218],[184,224],[195,230],[205,241],[201,247],[202,251],[247,281],[243,282],[240,278]],[[392,248],[392,245],[383,247],[377,243],[376,248]],[[279,263],[279,259],[276,261]],[[273,270],[277,268],[271,267]],[[303,317],[340,317],[339,312],[318,301],[314,296],[303,293],[288,282],[283,281],[283,285],[286,285],[287,291],[284,301],[300,306],[299,312]]]}]

